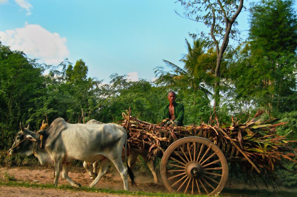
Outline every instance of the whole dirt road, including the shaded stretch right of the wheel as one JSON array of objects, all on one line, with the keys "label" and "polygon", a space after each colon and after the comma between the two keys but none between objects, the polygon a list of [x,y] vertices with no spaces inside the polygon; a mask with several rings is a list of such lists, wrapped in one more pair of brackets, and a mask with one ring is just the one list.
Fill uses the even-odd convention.
[{"label": "whole dirt road, including the shaded stretch right of the wheel", "polygon": [[[14,178],[16,182],[27,182],[35,184],[53,184],[54,176],[53,169],[44,168],[44,167],[13,167],[13,168],[1,168],[0,167],[0,181],[5,182],[10,178]],[[68,173],[69,177],[72,178],[75,182],[80,183],[82,186],[88,187],[88,185],[93,181],[90,179],[89,175],[84,169],[72,169]],[[161,184],[153,183],[153,177],[143,176],[137,172],[136,182],[138,185],[131,187],[131,181],[129,179],[129,190],[132,192],[161,192],[167,193],[166,188]],[[60,175],[58,185],[69,185],[69,183],[62,178]],[[236,187],[235,187],[236,186]],[[118,172],[107,173],[103,178],[95,185],[95,188],[98,189],[98,192],[84,192],[84,191],[75,191],[75,190],[64,190],[64,189],[46,189],[46,188],[26,188],[26,187],[9,187],[9,186],[0,186],[0,197],[9,197],[9,196],[127,196],[120,194],[110,194],[110,193],[101,193],[100,189],[111,189],[111,190],[123,190],[123,181]],[[261,188],[262,189],[262,188]],[[266,189],[266,188],[263,188]],[[281,189],[282,191],[287,191],[287,189]],[[261,194],[261,191],[263,194]],[[267,193],[268,191],[268,193]],[[251,188],[245,184],[238,184],[236,182],[233,185],[227,183],[225,189],[222,191],[222,195],[227,196],[292,196],[296,194],[297,189],[293,189],[291,192],[295,193],[275,193],[274,190],[268,189],[263,192],[257,188]],[[270,192],[270,193],[269,193]]]}]

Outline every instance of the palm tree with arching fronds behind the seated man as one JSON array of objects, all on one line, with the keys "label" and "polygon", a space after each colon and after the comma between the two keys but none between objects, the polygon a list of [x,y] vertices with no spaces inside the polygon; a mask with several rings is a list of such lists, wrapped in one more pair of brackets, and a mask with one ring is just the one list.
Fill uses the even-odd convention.
[{"label": "palm tree with arching fronds behind the seated man", "polygon": [[207,98],[208,95],[211,95],[208,88],[211,87],[212,77],[208,72],[213,67],[213,55],[211,50],[208,51],[210,53],[205,53],[205,41],[201,38],[194,39],[192,45],[187,39],[185,39],[185,42],[187,53],[180,59],[183,68],[168,60],[163,60],[168,67],[172,68],[173,73],[164,72],[162,67],[159,67],[155,69],[156,77],[159,75],[155,82],[179,87],[179,89],[183,88],[184,90],[190,87],[190,92],[202,91]]}]

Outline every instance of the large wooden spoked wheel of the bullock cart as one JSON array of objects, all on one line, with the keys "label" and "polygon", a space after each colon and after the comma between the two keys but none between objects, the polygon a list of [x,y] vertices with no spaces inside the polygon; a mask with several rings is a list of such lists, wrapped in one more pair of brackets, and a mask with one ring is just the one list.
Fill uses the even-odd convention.
[{"label": "large wooden spoked wheel of the bullock cart", "polygon": [[215,195],[228,178],[223,152],[210,140],[185,137],[173,142],[161,161],[161,177],[169,192]]}]

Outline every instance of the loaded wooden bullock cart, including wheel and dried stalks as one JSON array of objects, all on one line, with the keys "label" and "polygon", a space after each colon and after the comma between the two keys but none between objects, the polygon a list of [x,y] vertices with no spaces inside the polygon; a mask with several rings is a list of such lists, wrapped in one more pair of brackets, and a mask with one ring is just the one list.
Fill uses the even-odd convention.
[{"label": "loaded wooden bullock cart, including wheel and dried stalks", "polygon": [[[243,147],[242,139],[245,138],[244,135],[255,134],[255,129],[252,128],[267,129],[271,135],[265,137],[270,139],[274,135],[274,142],[279,138],[277,134],[272,134],[275,130],[271,129],[280,124],[267,126],[254,119],[244,124],[232,120],[233,123],[226,127],[219,127],[218,123],[212,126],[201,123],[199,126],[165,127],[162,123],[154,125],[132,117],[130,111],[128,115],[123,113],[123,117],[121,125],[130,131],[128,144],[131,152],[147,154],[148,159],[162,158],[160,174],[169,192],[192,195],[220,193],[227,182],[228,162],[244,163],[249,166],[244,169],[248,173],[259,174],[264,172],[263,169],[271,169],[268,166],[271,162],[266,160],[269,160],[269,154],[264,159],[262,156],[253,158],[247,148]],[[250,133],[244,133],[246,131]],[[263,164],[257,162],[260,157]],[[257,166],[261,167],[261,171]]]}]

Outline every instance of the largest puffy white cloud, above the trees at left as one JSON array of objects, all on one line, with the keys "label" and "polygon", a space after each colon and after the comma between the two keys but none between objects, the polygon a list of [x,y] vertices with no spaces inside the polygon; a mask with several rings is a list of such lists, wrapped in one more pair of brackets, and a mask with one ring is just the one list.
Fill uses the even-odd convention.
[{"label": "largest puffy white cloud, above the trees at left", "polygon": [[39,58],[46,64],[58,64],[68,55],[66,38],[51,33],[40,25],[28,25],[23,28],[0,32],[0,40],[12,50],[23,51],[31,58]]}]

